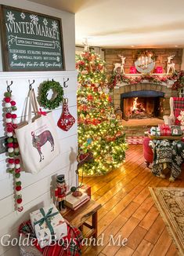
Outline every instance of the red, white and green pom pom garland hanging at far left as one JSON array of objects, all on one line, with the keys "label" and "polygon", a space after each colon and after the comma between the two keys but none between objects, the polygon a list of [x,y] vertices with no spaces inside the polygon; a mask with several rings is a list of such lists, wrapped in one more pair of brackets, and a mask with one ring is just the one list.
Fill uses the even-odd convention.
[{"label": "red, white and green pom pom garland hanging at far left", "polygon": [[15,129],[17,127],[16,123],[16,114],[12,112],[16,111],[16,102],[13,101],[12,93],[5,92],[5,130],[7,139],[7,146],[8,146],[8,153],[9,153],[9,173],[14,174],[15,177],[15,192],[16,192],[16,206],[18,211],[23,210],[22,206],[22,195],[21,195],[21,181],[20,181],[20,150],[19,144],[16,139]]}]

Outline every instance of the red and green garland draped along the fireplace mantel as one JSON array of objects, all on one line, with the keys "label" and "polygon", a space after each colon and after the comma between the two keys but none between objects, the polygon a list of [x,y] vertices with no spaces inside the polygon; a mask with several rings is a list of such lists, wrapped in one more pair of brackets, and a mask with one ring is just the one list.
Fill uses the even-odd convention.
[{"label": "red and green garland draped along the fireplace mantel", "polygon": [[160,75],[140,75],[140,76],[136,76],[131,77],[131,76],[127,76],[127,75],[121,75],[121,74],[117,74],[117,73],[113,73],[112,75],[110,75],[110,80],[108,83],[108,87],[110,90],[114,89],[114,86],[117,85],[117,83],[127,83],[127,84],[137,84],[140,82],[153,82],[153,83],[157,83],[157,84],[161,84],[162,82],[167,82],[168,80],[175,80],[175,74],[174,75],[164,75],[164,76],[160,76]]}]

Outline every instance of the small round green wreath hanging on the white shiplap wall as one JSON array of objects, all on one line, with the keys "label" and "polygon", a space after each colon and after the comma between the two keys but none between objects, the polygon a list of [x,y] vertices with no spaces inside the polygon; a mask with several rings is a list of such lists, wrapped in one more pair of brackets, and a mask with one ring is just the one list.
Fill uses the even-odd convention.
[{"label": "small round green wreath hanging on the white shiplap wall", "polygon": [[[49,90],[53,91],[53,95],[50,100],[47,98]],[[60,85],[60,82],[56,82],[54,80],[41,82],[38,102],[42,107],[49,109],[58,108],[62,101],[63,87]]]}]

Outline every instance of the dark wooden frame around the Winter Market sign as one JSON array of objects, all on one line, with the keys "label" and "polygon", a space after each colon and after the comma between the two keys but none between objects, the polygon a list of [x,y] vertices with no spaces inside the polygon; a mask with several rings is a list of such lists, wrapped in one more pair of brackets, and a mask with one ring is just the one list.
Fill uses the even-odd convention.
[{"label": "dark wooden frame around the Winter Market sign", "polygon": [[[60,61],[60,64],[62,65],[61,68],[43,68],[43,67],[33,67],[33,68],[12,68],[10,66],[10,54],[9,53],[9,46],[8,46],[8,42],[7,42],[7,31],[6,31],[6,27],[5,27],[5,16],[4,16],[4,9],[9,9],[10,11],[15,11],[15,12],[20,12],[20,13],[27,13],[27,14],[31,14],[34,16],[38,16],[41,17],[42,19],[49,19],[49,20],[56,20],[56,22],[58,22],[58,41],[60,41],[60,57],[62,58],[62,60]],[[62,20],[59,17],[55,17],[55,16],[49,16],[47,14],[43,14],[43,13],[36,13],[33,12],[31,10],[27,10],[27,9],[20,9],[20,8],[16,8],[13,6],[8,6],[8,5],[0,5],[0,28],[1,28],[1,41],[2,41],[2,65],[3,65],[3,71],[65,71],[65,59],[64,59],[64,48],[63,48],[63,30],[62,30]],[[49,35],[49,34],[48,34]],[[34,37],[33,37],[34,38]],[[36,40],[36,38],[34,39],[30,39],[30,40]],[[36,48],[36,46],[35,46]],[[34,55],[33,55],[34,56]],[[42,61],[44,63],[44,61]]]}]

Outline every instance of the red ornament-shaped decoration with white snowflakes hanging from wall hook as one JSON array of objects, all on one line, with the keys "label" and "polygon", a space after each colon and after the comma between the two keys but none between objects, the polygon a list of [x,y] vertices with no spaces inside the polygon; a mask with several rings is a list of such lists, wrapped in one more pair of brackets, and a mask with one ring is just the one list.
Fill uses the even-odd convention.
[{"label": "red ornament-shaped decoration with white snowflakes hanging from wall hook", "polygon": [[74,123],[74,116],[72,116],[68,110],[68,99],[65,98],[63,99],[63,112],[57,122],[57,126],[59,126],[62,130],[68,131],[70,130],[71,126],[74,125]]}]

